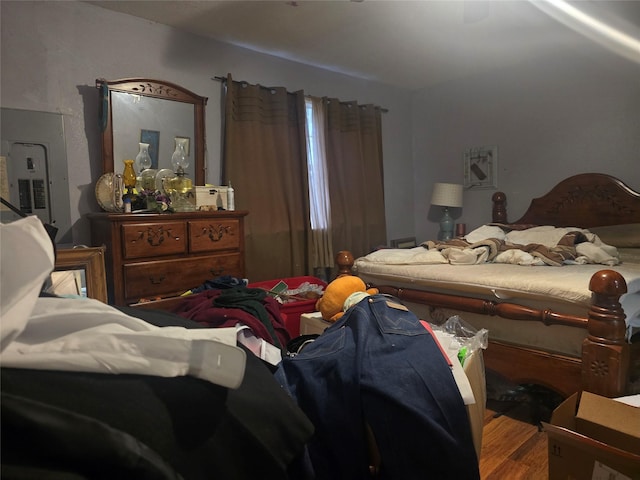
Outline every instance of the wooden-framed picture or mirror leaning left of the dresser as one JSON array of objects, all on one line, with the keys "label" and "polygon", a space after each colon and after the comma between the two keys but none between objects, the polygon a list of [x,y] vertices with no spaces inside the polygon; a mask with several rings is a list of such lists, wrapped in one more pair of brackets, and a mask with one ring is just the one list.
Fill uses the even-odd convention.
[{"label": "wooden-framed picture or mirror leaning left of the dresser", "polygon": [[56,252],[47,291],[56,295],[78,295],[107,303],[105,247],[64,248]]}]

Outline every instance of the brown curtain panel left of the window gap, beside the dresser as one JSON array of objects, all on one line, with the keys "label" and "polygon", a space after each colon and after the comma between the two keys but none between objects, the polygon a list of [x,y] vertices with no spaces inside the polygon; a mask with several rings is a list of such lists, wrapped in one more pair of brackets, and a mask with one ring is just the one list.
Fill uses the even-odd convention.
[{"label": "brown curtain panel left of the window gap, beside the dresser", "polygon": [[250,282],[309,272],[309,193],[303,92],[227,76],[223,181],[245,217]]}]

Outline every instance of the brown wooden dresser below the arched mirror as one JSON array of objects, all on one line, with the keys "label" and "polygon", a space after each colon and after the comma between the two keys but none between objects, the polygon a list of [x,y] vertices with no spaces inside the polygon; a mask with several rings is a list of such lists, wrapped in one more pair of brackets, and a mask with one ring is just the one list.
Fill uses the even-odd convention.
[{"label": "brown wooden dresser below the arched mirror", "polygon": [[106,247],[109,303],[176,297],[222,275],[244,277],[246,211],[91,213],[91,242]]}]

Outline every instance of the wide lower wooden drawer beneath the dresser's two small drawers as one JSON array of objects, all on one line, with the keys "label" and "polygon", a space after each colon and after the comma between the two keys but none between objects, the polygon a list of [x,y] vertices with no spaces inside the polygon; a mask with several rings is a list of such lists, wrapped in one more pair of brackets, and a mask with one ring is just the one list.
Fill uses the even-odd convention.
[{"label": "wide lower wooden drawer beneath the dresser's two small drawers", "polygon": [[221,275],[242,276],[240,253],[124,265],[125,298],[180,295]]}]

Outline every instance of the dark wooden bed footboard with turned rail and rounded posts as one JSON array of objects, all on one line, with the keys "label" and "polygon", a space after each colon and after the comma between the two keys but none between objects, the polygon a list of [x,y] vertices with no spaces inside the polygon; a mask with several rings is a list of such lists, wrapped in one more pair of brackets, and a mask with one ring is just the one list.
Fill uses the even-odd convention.
[{"label": "dark wooden bed footboard with turned rail and rounded posts", "polygon": [[[351,275],[354,257],[344,250],[336,256],[339,275]],[[590,281],[591,306],[585,316],[551,309],[529,308],[516,303],[460,297],[423,290],[372,285],[400,300],[430,307],[451,308],[514,321],[539,321],[587,330],[582,358],[571,358],[503,342],[490,342],[487,368],[519,383],[539,383],[568,396],[577,390],[616,397],[640,392],[640,346],[625,340],[625,314],[620,296],[627,285],[618,272],[600,270]]]}]

